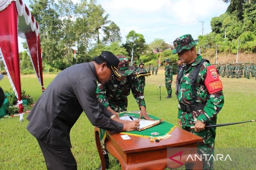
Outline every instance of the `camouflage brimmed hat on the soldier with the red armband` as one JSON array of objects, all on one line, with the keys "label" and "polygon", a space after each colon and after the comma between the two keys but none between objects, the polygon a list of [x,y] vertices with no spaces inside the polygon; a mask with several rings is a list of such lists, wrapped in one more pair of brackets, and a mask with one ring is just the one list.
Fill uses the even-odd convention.
[{"label": "camouflage brimmed hat on the soldier with the red armband", "polygon": [[196,45],[198,41],[199,40],[193,40],[190,34],[182,35],[173,41],[174,49],[172,50],[172,54],[179,54],[183,49],[190,49]]}]

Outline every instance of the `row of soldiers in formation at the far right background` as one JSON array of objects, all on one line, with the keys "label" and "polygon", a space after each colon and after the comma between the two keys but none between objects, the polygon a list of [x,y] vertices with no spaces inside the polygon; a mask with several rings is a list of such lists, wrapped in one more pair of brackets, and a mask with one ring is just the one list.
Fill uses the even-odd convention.
[{"label": "row of soldiers in formation at the far right background", "polygon": [[244,75],[244,78],[249,79],[250,73],[252,77],[255,77],[256,79],[256,65],[254,63],[220,63],[215,64],[215,67],[217,68],[219,75],[222,77],[231,76],[231,78],[242,78],[242,75]]}]

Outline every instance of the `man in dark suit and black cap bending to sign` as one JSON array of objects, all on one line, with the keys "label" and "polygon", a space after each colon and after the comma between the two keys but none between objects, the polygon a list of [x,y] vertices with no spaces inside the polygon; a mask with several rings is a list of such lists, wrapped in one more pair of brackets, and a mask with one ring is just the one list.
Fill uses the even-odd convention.
[{"label": "man in dark suit and black cap bending to sign", "polygon": [[48,169],[77,169],[69,133],[84,111],[92,125],[119,133],[140,126],[124,123],[108,112],[96,97],[97,81],[105,84],[117,72],[119,59],[102,51],[92,62],[76,64],[61,71],[46,88],[27,116],[28,131],[36,137]]}]

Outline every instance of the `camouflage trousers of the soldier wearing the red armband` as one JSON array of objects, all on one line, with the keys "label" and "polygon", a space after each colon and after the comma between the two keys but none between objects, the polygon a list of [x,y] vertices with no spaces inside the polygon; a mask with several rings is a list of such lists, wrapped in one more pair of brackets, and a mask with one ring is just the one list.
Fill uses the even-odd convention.
[{"label": "camouflage trousers of the soldier wearing the red armband", "polygon": [[197,143],[197,153],[199,155],[207,154],[207,160],[205,159],[205,156],[202,156],[203,169],[213,169],[213,159],[210,159],[210,157],[211,155],[214,156],[214,141],[216,136],[215,128],[206,128],[201,132],[195,132],[194,129],[190,129],[189,127],[185,127],[184,130],[204,139],[203,142]]}]

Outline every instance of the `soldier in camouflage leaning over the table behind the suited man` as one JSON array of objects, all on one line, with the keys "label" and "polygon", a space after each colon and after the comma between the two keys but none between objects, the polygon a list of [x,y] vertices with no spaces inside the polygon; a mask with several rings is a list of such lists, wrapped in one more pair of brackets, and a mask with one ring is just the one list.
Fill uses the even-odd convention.
[{"label": "soldier in camouflage leaning over the table behind the suited man", "polygon": [[[97,87],[97,97],[109,112],[118,115],[116,112],[126,112],[128,106],[128,95],[132,90],[133,97],[137,101],[140,108],[140,117],[151,119],[146,112],[146,104],[144,95],[137,90],[139,85],[138,79],[132,71],[132,66],[129,66],[127,57],[117,55],[120,62],[118,65],[118,73],[121,78],[112,77],[105,85],[99,84]],[[108,168],[109,158],[108,151],[103,147],[104,159],[106,168]],[[101,166],[100,166],[101,167]]]}]

